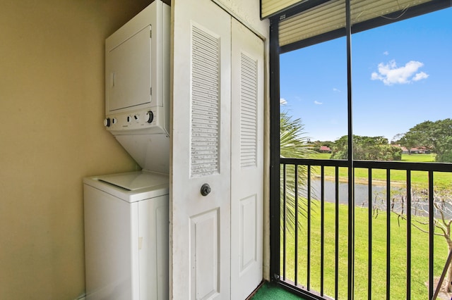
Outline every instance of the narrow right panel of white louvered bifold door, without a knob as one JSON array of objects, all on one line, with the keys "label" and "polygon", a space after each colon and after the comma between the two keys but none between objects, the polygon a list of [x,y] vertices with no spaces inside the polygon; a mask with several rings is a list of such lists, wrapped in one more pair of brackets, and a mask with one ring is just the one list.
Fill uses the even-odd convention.
[{"label": "narrow right panel of white louvered bifold door, without a knob", "polygon": [[262,280],[263,41],[232,20],[231,299]]}]

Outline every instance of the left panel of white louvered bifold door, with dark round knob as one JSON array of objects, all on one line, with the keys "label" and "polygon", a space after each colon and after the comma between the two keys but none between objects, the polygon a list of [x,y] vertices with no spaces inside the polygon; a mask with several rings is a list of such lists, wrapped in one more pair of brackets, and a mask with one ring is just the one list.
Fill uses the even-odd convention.
[{"label": "left panel of white louvered bifold door, with dark round knob", "polygon": [[231,20],[210,0],[172,9],[170,292],[230,299]]}]

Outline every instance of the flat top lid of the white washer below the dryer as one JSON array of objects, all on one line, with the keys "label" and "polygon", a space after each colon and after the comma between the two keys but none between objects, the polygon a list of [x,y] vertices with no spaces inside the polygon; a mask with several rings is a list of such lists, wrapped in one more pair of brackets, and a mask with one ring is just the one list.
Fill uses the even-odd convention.
[{"label": "flat top lid of the white washer below the dryer", "polygon": [[97,180],[128,189],[129,191],[168,184],[167,175],[145,172],[103,175],[97,177]]}]

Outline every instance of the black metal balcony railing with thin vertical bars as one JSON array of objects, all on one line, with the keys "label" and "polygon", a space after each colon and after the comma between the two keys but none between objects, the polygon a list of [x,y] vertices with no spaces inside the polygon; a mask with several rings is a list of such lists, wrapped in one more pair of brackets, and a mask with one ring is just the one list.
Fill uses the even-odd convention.
[{"label": "black metal balcony railing with thin vertical bars", "polygon": [[[280,285],[307,299],[350,299],[350,291],[344,288],[350,280],[355,280],[355,298],[411,299],[415,285],[417,289],[425,289],[423,299],[427,294],[428,299],[433,299],[434,282],[441,275],[449,252],[444,237],[439,236],[439,227],[436,227],[441,220],[452,220],[452,199],[448,201],[446,197],[445,201],[444,196],[442,202],[437,199],[434,176],[452,173],[452,165],[355,161],[355,172],[367,169],[367,178],[359,184],[362,191],[353,193],[355,201],[351,201],[355,203],[355,215],[359,213],[359,219],[354,218],[356,223],[359,222],[355,224],[359,231],[354,231],[355,235],[359,232],[367,237],[355,237],[353,245],[347,244],[345,221],[350,199],[347,199],[346,189],[342,189],[347,185],[343,182],[347,177],[340,176],[340,170],[346,170],[347,165],[347,161],[280,159]],[[417,171],[426,173],[424,184],[412,183],[412,173]],[[395,172],[405,175],[402,183],[391,180]],[[374,179],[376,173],[386,173],[383,181],[379,178],[378,185]],[[452,189],[452,185],[450,187]],[[362,210],[357,212],[359,206]],[[367,223],[367,230],[362,230],[366,227],[364,223]],[[381,240],[374,240],[382,230],[386,230],[383,241],[386,245],[382,245]],[[421,242],[424,249],[418,249],[422,248],[419,241],[413,242],[413,230],[417,230],[416,239],[425,237],[422,239],[425,243]],[[394,232],[403,234],[394,235]],[[445,254],[441,247],[441,253],[435,253],[435,240],[436,245],[444,243],[441,245],[444,245]],[[363,251],[359,251],[350,256],[350,253],[355,254],[350,249],[357,247],[367,249],[367,255],[363,257]],[[400,248],[404,250],[400,251]],[[412,256],[413,251],[416,258]],[[422,251],[425,261],[413,263],[413,259],[419,260],[418,254]],[[355,264],[354,278],[344,271],[350,257]],[[383,266],[381,257],[386,260]],[[417,270],[419,263],[427,264],[422,270],[428,274]],[[366,276],[363,273],[367,273]],[[403,274],[402,279],[400,274]],[[401,280],[405,281],[404,287],[400,287]]]}]

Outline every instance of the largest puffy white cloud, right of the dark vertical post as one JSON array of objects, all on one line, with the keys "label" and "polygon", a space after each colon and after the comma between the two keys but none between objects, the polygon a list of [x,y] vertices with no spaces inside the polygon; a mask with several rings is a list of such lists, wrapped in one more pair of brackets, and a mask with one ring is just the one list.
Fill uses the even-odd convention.
[{"label": "largest puffy white cloud, right of the dark vertical post", "polygon": [[423,65],[424,63],[420,61],[409,61],[402,67],[398,67],[396,61],[390,61],[386,64],[379,63],[379,71],[371,74],[371,80],[381,80],[385,85],[403,85],[412,81],[419,81],[429,77],[427,73],[417,73],[417,70]]}]

